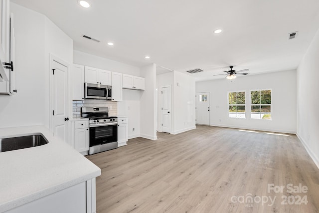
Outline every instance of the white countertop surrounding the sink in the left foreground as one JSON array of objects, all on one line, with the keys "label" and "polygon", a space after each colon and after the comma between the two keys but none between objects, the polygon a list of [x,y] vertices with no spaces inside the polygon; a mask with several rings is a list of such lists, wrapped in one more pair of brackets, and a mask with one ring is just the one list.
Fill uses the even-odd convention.
[{"label": "white countertop surrounding the sink in the left foreground", "polygon": [[48,144],[0,152],[0,212],[101,175],[101,169],[44,126],[0,129],[0,137],[42,133]]}]

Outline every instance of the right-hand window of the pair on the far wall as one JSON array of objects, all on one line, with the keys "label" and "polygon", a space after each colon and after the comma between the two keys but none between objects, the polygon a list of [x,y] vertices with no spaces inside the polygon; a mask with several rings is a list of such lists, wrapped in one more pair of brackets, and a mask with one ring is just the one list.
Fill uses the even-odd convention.
[{"label": "right-hand window of the pair on the far wall", "polygon": [[250,92],[251,118],[271,120],[271,90]]}]

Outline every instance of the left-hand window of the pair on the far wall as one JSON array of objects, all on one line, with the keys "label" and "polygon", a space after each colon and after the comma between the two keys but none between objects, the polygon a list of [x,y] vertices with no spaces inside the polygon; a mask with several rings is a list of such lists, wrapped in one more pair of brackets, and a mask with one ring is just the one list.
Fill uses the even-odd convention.
[{"label": "left-hand window of the pair on the far wall", "polygon": [[246,118],[245,92],[229,92],[228,105],[230,118]]}]

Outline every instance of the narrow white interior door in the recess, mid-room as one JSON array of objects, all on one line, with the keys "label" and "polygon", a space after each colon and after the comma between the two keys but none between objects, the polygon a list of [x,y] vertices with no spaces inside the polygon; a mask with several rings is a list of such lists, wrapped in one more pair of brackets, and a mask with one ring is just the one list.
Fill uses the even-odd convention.
[{"label": "narrow white interior door in the recess, mid-room", "polygon": [[162,132],[170,133],[171,131],[171,93],[170,86],[161,88],[161,123]]}]

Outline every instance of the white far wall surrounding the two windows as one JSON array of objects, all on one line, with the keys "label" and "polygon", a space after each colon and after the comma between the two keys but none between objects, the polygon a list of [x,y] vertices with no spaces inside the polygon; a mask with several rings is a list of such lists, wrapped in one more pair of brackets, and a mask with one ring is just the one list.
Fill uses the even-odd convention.
[{"label": "white far wall surrounding the two windows", "polygon": [[[272,120],[250,119],[250,90],[272,89]],[[196,92],[210,92],[210,125],[296,133],[296,70],[196,82]],[[228,117],[228,92],[246,91],[246,119]]]}]

